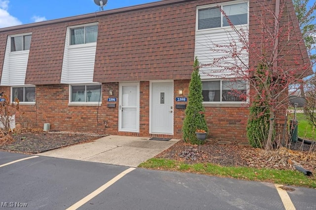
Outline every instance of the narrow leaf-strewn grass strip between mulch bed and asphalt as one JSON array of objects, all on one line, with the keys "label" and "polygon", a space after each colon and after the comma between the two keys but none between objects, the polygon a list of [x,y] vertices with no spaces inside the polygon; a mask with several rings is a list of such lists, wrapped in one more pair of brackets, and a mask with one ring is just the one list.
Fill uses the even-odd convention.
[{"label": "narrow leaf-strewn grass strip between mulch bed and asphalt", "polygon": [[276,184],[316,188],[315,176],[308,177],[298,171],[256,169],[248,167],[222,167],[213,164],[185,164],[181,161],[152,158],[139,167],[156,170],[190,172],[204,175],[216,175],[253,181],[266,181]]}]

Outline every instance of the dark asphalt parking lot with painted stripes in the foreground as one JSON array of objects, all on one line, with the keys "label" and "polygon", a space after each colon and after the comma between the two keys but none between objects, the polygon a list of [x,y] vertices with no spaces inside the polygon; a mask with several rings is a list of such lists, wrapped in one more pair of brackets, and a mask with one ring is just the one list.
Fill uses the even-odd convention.
[{"label": "dark asphalt parking lot with painted stripes in the foreground", "polygon": [[271,183],[8,152],[0,186],[1,209],[316,209],[314,189],[288,192],[291,206]]}]

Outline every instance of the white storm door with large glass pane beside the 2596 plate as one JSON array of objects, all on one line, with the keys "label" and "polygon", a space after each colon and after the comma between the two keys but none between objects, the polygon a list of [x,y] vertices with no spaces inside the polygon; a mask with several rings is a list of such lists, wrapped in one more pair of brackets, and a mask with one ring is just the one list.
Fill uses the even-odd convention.
[{"label": "white storm door with large glass pane beside the 2596 plate", "polygon": [[139,132],[139,83],[119,85],[118,130]]}]

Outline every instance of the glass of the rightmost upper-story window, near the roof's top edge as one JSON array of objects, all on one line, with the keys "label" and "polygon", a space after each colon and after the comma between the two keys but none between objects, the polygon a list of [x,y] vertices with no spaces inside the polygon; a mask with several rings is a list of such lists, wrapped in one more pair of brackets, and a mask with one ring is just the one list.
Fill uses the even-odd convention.
[{"label": "glass of the rightmost upper-story window, near the roof's top edge", "polygon": [[[236,26],[248,23],[248,3],[237,3],[220,6],[228,19]],[[198,30],[229,26],[226,17],[217,5],[197,10]]]}]

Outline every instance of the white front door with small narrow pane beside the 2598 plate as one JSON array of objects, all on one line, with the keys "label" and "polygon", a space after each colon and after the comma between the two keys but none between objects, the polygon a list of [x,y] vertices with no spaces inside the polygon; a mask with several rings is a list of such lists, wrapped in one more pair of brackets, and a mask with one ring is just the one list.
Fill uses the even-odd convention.
[{"label": "white front door with small narrow pane beside the 2598 plate", "polygon": [[152,82],[151,133],[173,134],[173,82]]}]

